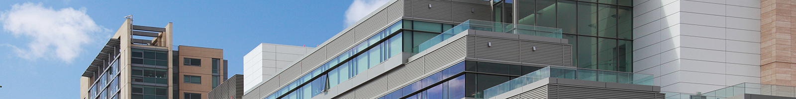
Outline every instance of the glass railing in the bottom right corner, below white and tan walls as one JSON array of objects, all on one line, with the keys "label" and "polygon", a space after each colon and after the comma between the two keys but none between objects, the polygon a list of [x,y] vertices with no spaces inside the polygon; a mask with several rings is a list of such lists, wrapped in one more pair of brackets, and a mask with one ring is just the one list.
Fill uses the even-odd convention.
[{"label": "glass railing in the bottom right corner, below white and tan walls", "polygon": [[759,94],[778,97],[796,97],[796,86],[776,86],[744,82],[708,93],[666,93],[666,99],[724,99],[742,94]]}]

